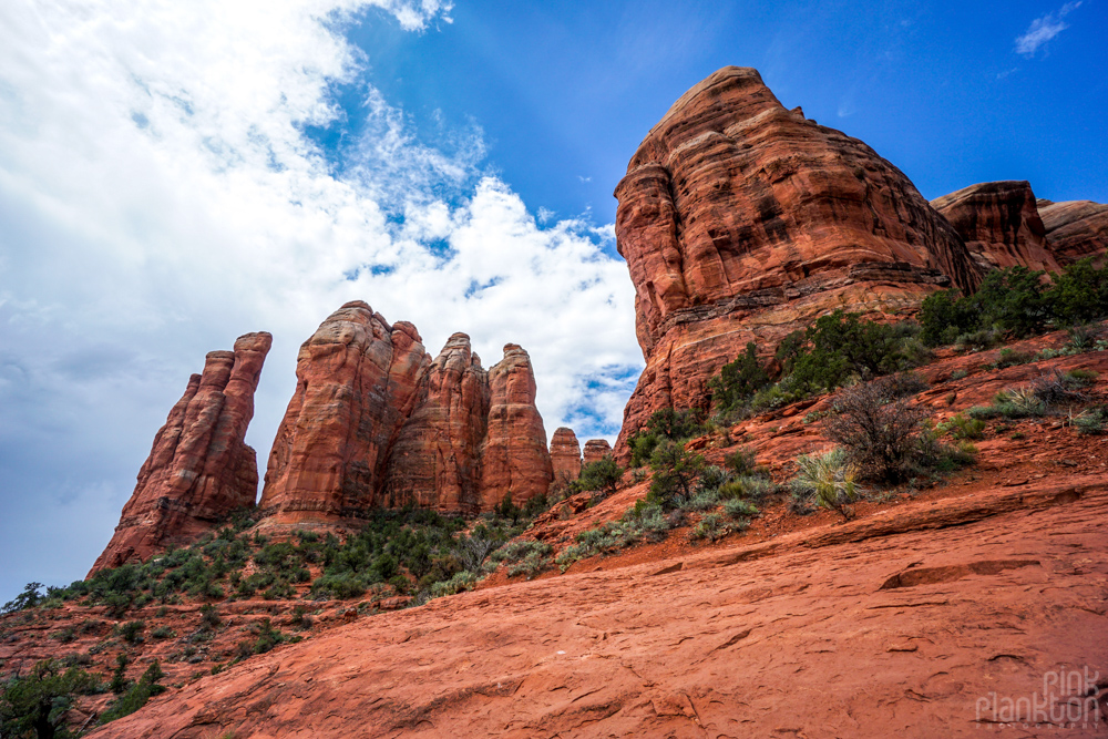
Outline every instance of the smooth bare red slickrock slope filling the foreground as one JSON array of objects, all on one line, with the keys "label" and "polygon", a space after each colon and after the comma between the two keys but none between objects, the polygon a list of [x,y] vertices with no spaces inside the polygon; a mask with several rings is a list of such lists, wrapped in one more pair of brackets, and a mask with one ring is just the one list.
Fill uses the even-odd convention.
[{"label": "smooth bare red slickrock slope filling the foreground", "polygon": [[1028,707],[1004,711],[1042,699],[1051,671],[1080,677],[1047,696],[1056,715],[1087,688],[1096,706],[1104,689],[1086,685],[1084,667],[1096,682],[1108,663],[1106,513],[1102,484],[1056,475],[943,509],[911,503],[822,537],[439,598],[278,647],[92,736],[883,738],[1034,727]]}]

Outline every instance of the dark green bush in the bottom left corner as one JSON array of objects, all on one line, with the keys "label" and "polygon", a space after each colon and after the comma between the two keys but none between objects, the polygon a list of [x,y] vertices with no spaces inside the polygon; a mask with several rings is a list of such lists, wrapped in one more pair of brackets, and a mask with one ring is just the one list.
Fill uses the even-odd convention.
[{"label": "dark green bush in the bottom left corner", "polygon": [[74,736],[65,728],[73,696],[96,692],[94,675],[61,660],[38,663],[28,674],[9,678],[0,692],[0,736]]}]

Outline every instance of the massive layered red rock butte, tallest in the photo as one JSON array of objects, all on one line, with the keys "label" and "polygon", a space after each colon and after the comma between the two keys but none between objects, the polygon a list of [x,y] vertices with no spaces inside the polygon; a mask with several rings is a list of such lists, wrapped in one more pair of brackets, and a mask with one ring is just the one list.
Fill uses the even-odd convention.
[{"label": "massive layered red rock butte, tallest in the photo", "polygon": [[862,142],[786,110],[751,69],[725,68],[650,130],[615,192],[646,358],[626,437],[747,341],[769,351],[838,307],[911,309],[981,270],[954,228]]}]

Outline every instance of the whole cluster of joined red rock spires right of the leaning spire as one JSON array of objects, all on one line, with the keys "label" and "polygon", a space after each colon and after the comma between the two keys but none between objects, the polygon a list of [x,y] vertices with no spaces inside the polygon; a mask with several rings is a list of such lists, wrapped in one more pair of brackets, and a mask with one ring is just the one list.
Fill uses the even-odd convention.
[{"label": "whole cluster of joined red rock spires right of the leaning spire", "polygon": [[464,333],[433,361],[416,327],[348,302],[300,347],[274,441],[266,525],[338,523],[413,503],[476,513],[553,478],[527,352],[485,371]]}]

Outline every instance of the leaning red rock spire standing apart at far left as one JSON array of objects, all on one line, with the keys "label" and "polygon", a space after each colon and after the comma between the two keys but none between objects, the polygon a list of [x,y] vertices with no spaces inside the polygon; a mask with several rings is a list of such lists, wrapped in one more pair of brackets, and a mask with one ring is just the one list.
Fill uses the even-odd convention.
[{"label": "leaning red rock spire standing apart at far left", "polygon": [[258,465],[245,438],[271,343],[269,333],[247,333],[234,351],[208,353],[203,373],[188,379],[154,438],[115,534],[90,575],[191,543],[233,511],[254,505]]}]

